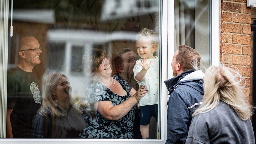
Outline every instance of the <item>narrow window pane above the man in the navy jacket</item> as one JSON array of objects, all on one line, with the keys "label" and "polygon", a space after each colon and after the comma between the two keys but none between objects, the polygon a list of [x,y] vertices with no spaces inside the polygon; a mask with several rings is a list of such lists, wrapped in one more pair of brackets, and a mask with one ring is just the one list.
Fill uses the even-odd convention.
[{"label": "narrow window pane above the man in the navy jacket", "polygon": [[201,69],[210,66],[210,1],[174,1],[174,52],[188,45],[201,55]]}]

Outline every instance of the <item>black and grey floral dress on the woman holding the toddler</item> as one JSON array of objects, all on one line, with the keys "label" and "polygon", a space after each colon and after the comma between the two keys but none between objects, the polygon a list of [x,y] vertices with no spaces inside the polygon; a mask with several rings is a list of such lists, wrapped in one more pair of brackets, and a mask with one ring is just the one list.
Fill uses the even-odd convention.
[{"label": "black and grey floral dress on the woman holding the toddler", "polygon": [[[119,76],[112,77],[121,84],[127,95],[119,96],[102,83],[95,83],[89,85],[86,89],[89,103],[109,100],[115,106],[131,97],[129,94],[132,89],[131,84]],[[85,115],[84,118],[88,120],[89,124],[80,132],[78,138],[133,138],[135,110],[136,105],[119,120],[105,119],[98,111],[94,118]]]}]

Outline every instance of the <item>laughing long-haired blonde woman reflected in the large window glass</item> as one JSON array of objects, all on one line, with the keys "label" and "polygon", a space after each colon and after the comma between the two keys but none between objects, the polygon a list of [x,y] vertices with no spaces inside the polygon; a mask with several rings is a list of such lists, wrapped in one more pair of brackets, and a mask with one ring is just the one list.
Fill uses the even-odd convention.
[{"label": "laughing long-haired blonde woman reflected in the large window glass", "polygon": [[74,103],[67,77],[46,71],[42,83],[42,106],[33,119],[31,138],[77,138],[87,122]]}]

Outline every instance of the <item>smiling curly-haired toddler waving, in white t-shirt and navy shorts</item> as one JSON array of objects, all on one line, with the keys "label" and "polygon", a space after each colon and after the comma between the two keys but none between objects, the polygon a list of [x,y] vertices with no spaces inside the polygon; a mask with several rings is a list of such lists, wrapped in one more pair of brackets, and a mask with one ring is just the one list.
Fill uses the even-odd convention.
[{"label": "smiling curly-haired toddler waving, in white t-shirt and navy shorts", "polygon": [[136,61],[133,72],[139,87],[145,86],[148,93],[138,103],[140,106],[140,131],[143,139],[149,139],[148,126],[153,116],[157,120],[158,104],[158,68],[159,60],[154,56],[158,45],[158,34],[144,28],[136,35],[137,53],[141,57]]}]

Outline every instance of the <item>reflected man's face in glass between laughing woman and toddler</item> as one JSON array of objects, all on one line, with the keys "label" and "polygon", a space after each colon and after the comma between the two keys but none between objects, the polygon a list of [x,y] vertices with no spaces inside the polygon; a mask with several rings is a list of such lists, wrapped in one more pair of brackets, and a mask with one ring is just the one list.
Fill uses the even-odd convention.
[{"label": "reflected man's face in glass between laughing woman and toddler", "polygon": [[124,69],[122,72],[124,72],[124,73],[129,73],[130,71],[132,72],[133,67],[137,60],[137,55],[135,54],[135,52],[133,52],[133,51],[125,52],[125,53],[121,54],[121,57],[123,59],[122,64],[124,66]]}]

